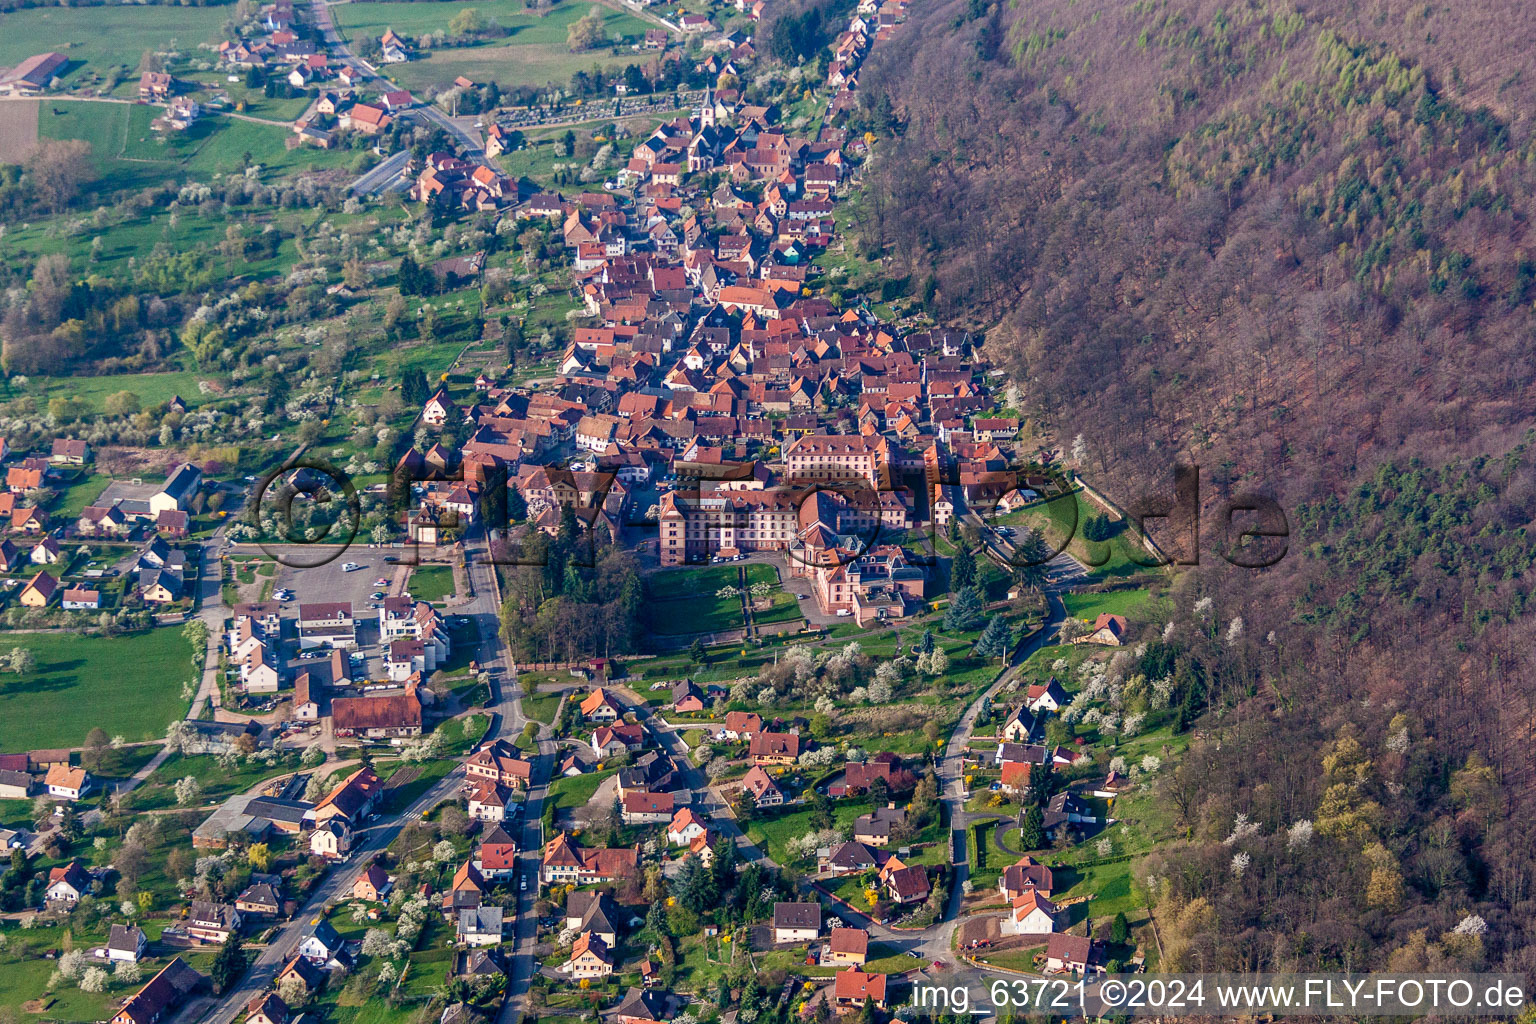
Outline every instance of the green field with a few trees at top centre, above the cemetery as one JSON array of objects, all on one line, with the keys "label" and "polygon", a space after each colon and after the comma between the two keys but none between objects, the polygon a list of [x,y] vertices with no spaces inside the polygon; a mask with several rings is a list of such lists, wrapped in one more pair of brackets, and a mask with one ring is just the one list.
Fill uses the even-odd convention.
[{"label": "green field with a few trees at top centre, above the cemetery", "polygon": [[[382,35],[384,29],[395,29],[407,38],[447,31],[449,20],[459,9],[462,8],[436,3],[346,3],[336,5],[332,15],[336,29],[358,48],[362,40]],[[476,2],[475,9],[485,21],[495,20],[508,34],[473,46],[424,49],[409,63],[390,64],[390,77],[419,92],[444,89],[458,75],[475,81],[496,81],[505,89],[551,81],[565,84],[573,74],[593,64],[611,69],[654,60],[654,54],[630,49],[637,37],[645,35],[645,29],[654,26],[622,11],[596,8],[602,15],[604,34],[614,40],[613,48],[573,54],[565,46],[565,32],[593,9],[590,3],[564,0],[535,14],[519,0],[487,0]]]}]

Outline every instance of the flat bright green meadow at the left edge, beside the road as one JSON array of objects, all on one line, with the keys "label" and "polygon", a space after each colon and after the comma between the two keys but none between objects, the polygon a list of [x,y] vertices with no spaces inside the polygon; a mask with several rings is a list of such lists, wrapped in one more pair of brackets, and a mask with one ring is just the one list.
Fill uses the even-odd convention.
[{"label": "flat bright green meadow at the left edge, beside the road", "polygon": [[192,648],[180,628],[126,637],[6,637],[0,654],[17,646],[32,651],[37,671],[0,677],[3,751],[78,746],[94,726],[154,740],[186,714],[181,685],[192,679]]}]

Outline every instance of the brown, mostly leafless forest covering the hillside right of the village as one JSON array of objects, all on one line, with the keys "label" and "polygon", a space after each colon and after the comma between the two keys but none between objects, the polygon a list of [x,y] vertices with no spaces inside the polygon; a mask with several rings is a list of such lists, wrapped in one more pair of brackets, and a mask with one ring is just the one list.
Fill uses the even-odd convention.
[{"label": "brown, mostly leafless forest covering the hillside right of the village", "polygon": [[[1201,468],[1287,557],[1134,622],[1184,694],[1137,864],[1166,969],[1536,973],[1536,14],[935,0],[877,51],[857,235],[1081,473]],[[1075,441],[1075,444],[1074,444]]]}]

